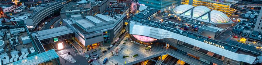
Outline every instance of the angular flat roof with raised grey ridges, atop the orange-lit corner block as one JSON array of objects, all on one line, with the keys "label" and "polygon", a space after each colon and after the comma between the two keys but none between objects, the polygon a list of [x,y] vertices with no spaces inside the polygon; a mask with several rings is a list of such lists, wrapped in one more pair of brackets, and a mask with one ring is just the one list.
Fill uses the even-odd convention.
[{"label": "angular flat roof with raised grey ridges, atop the orange-lit corner block", "polygon": [[85,19],[80,20],[63,20],[82,34],[88,35],[98,31],[112,29],[112,27],[118,24],[124,16],[125,15],[121,15],[120,17],[114,19],[110,16],[96,14],[95,16],[86,16]]}]

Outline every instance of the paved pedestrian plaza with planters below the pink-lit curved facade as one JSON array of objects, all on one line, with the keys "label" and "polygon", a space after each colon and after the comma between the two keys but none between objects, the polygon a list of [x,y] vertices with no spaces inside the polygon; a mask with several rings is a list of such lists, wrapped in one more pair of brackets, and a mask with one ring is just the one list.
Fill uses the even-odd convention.
[{"label": "paved pedestrian plaza with planters below the pink-lit curved facade", "polygon": [[[124,40],[125,40],[125,38],[124,38]],[[111,56],[111,53],[107,53],[107,54],[105,54],[105,56],[101,57],[99,60],[94,61],[92,64],[93,65],[100,65],[98,63],[98,61],[102,62],[105,58],[108,58],[109,60],[106,64],[117,64],[118,63],[119,65],[123,65],[124,61],[126,61],[126,63],[130,63],[130,62],[133,62],[133,61],[136,61],[136,60],[143,59],[143,58],[148,57],[148,56],[152,56],[152,55],[159,54],[161,52],[165,52],[167,50],[168,51],[172,50],[172,49],[169,49],[169,48],[161,49],[162,45],[156,44],[156,45],[152,45],[151,51],[148,51],[148,50],[145,50],[145,48],[146,48],[145,46],[137,45],[137,44],[135,44],[131,41],[126,42],[125,45],[123,45],[123,43],[124,43],[124,41],[121,41],[119,46],[118,46],[118,48],[121,47],[121,46],[124,47],[124,49],[119,51],[118,56]],[[110,49],[110,50],[115,50],[115,49]],[[138,54],[137,58],[132,57],[135,54]],[[129,56],[129,58],[122,58],[124,55]],[[104,64],[102,64],[102,65],[104,65]]]}]

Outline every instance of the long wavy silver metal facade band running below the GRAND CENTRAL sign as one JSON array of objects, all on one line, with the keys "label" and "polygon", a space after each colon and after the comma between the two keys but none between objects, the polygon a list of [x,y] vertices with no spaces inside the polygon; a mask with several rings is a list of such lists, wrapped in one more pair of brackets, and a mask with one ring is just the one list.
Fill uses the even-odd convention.
[{"label": "long wavy silver metal facade band running below the GRAND CENTRAL sign", "polygon": [[[143,35],[143,36],[148,36],[156,39],[164,39],[164,38],[173,38],[194,46],[197,46],[199,48],[208,50],[210,52],[217,53],[219,55],[225,56],[227,58],[237,60],[237,61],[242,61],[246,63],[252,64],[256,57],[254,56],[249,56],[249,55],[244,55],[244,54],[238,54],[235,52],[231,52],[226,49],[219,48],[214,45],[210,45],[207,43],[204,43],[202,41],[198,41],[193,38],[189,38],[187,36],[177,34],[171,31],[167,31],[164,29],[160,28],[155,28],[155,27],[148,27],[148,26],[141,26],[141,25],[136,25],[136,24],[129,24],[129,34],[132,35]],[[170,44],[170,43],[169,43]]]}]

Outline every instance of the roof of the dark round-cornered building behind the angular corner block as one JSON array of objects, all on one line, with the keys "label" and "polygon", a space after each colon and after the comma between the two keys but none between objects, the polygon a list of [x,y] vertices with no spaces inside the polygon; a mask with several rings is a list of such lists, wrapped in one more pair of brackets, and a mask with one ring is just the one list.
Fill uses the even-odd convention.
[{"label": "roof of the dark round-cornered building behind the angular corner block", "polygon": [[75,2],[71,2],[69,4],[67,4],[66,6],[64,6],[64,8],[61,10],[61,12],[71,12],[68,10],[79,10],[79,11],[83,11],[83,10],[91,10],[91,6],[88,3],[75,3]]}]

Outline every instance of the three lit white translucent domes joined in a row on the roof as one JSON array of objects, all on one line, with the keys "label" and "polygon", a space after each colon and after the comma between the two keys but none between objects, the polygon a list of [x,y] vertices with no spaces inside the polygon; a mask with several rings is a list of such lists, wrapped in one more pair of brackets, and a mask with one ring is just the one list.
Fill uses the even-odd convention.
[{"label": "three lit white translucent domes joined in a row on the roof", "polygon": [[198,23],[200,22],[202,24],[205,23],[205,25],[211,24],[215,27],[229,27],[233,25],[233,21],[224,13],[217,10],[211,10],[205,6],[194,7],[192,5],[179,5],[170,10],[170,12],[175,15],[177,20],[186,19]]}]

